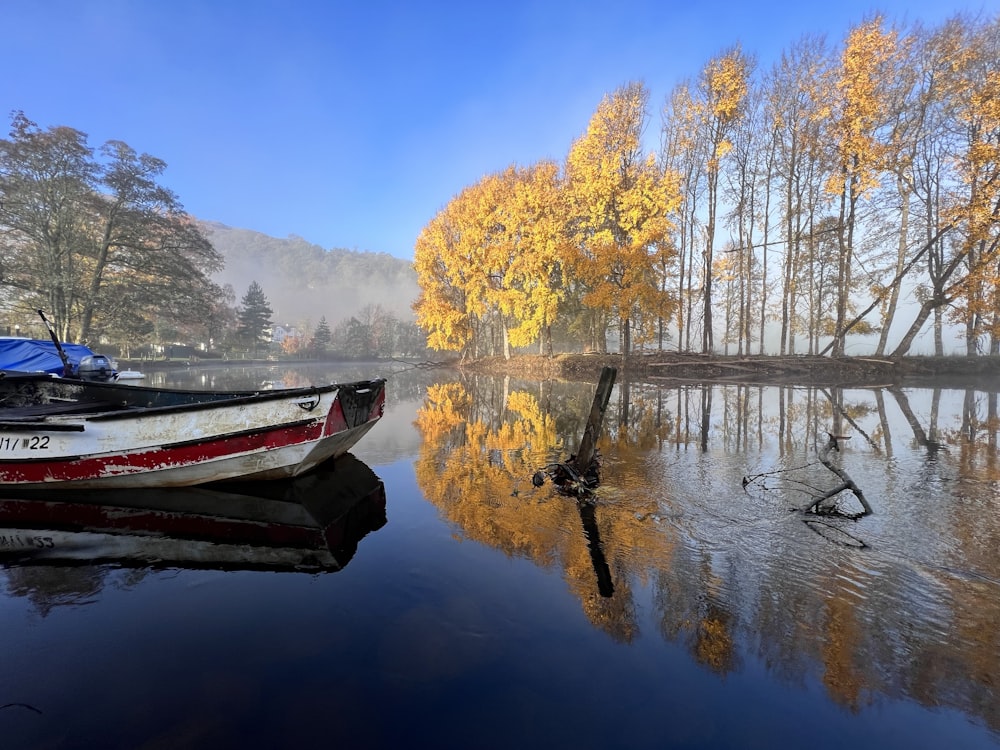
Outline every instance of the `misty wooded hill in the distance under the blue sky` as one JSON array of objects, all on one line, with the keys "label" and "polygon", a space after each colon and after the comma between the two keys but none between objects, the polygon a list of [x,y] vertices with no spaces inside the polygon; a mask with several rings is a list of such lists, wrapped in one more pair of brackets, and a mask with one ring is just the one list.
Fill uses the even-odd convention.
[{"label": "misty wooded hill in the distance under the blue sky", "polygon": [[230,284],[239,303],[250,283],[264,290],[275,323],[331,327],[378,304],[401,321],[413,320],[417,276],[408,260],[387,253],[324,250],[301,237],[269,237],[217,222],[199,222],[225,258],[213,280]]}]

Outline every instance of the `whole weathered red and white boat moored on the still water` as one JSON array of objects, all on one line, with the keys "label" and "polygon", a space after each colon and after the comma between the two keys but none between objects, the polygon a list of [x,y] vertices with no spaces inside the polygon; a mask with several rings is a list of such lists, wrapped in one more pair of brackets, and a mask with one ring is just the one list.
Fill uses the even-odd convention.
[{"label": "whole weathered red and white boat moored on the still water", "polygon": [[101,489],[294,477],[350,450],[384,406],[383,379],[188,391],[0,371],[0,484]]}]

